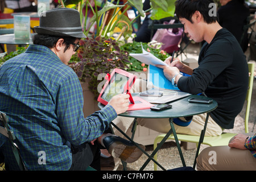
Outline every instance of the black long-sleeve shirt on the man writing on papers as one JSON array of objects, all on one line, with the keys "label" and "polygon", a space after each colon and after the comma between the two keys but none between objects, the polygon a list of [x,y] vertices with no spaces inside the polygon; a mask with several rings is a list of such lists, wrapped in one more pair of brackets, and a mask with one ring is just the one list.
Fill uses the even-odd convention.
[{"label": "black long-sleeve shirt on the man writing on papers", "polygon": [[205,43],[199,55],[199,67],[191,77],[181,77],[177,86],[184,92],[204,92],[218,103],[210,113],[224,129],[234,127],[242,110],[248,88],[248,65],[236,38],[225,28],[219,30],[210,44]]}]

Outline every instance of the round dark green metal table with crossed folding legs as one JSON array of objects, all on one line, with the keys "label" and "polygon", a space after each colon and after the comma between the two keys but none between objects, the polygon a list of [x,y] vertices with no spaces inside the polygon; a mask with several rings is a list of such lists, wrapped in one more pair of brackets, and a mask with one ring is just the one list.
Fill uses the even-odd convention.
[{"label": "round dark green metal table with crossed folding legs", "polygon": [[[136,96],[136,94],[133,94],[133,96]],[[148,156],[148,160],[143,164],[143,166],[141,167],[141,170],[143,170],[144,167],[147,166],[147,164],[150,162],[150,160],[153,160],[160,168],[164,169],[158,162],[156,162],[154,160],[153,157],[156,154],[156,152],[160,149],[160,147],[162,147],[164,142],[167,140],[167,138],[172,133],[174,134],[174,137],[175,137],[175,141],[176,141],[176,144],[177,144],[177,148],[179,150],[181,162],[183,163],[183,166],[185,166],[185,161],[184,161],[183,154],[182,154],[182,151],[181,151],[181,148],[180,148],[179,139],[177,138],[176,131],[175,131],[175,128],[174,128],[173,118],[188,117],[188,116],[192,116],[192,115],[207,113],[207,118],[205,120],[205,126],[204,126],[204,129],[201,131],[201,137],[202,138],[200,138],[200,141],[199,141],[199,144],[198,144],[198,147],[197,147],[197,151],[196,151],[195,159],[197,158],[197,155],[199,154],[200,144],[201,144],[201,141],[203,141],[205,130],[207,128],[209,112],[214,110],[214,109],[216,109],[218,104],[214,100],[213,100],[213,102],[211,104],[197,104],[197,103],[190,103],[190,102],[188,102],[189,98],[192,98],[192,97],[205,98],[204,96],[191,95],[191,96],[188,96],[188,97],[185,97],[185,98],[181,98],[181,99],[176,100],[176,101],[167,102],[167,104],[171,104],[172,105],[171,109],[166,109],[166,110],[162,110],[162,111],[153,111],[151,109],[142,109],[142,110],[126,111],[125,113],[119,114],[122,117],[132,117],[132,118],[134,118],[134,125],[133,125],[133,130],[132,130],[133,131],[133,135],[132,135],[131,138],[128,137],[121,129],[119,129],[118,126],[116,126],[113,122],[111,122],[111,124],[118,131],[120,131],[127,139],[129,139],[140,150],[142,150],[137,145],[137,143],[135,143],[133,141],[134,133],[135,133],[136,126],[137,126],[137,118],[156,118],[156,119],[157,118],[169,118],[171,129],[166,134],[166,137],[164,137],[163,140],[159,143],[158,147],[155,148],[155,150],[152,152],[151,155],[148,155],[147,152],[142,150],[142,152],[145,155]],[[100,109],[102,109],[104,107],[104,105],[99,103],[98,107],[100,107]],[[195,164],[194,164],[194,166],[195,166]]]}]

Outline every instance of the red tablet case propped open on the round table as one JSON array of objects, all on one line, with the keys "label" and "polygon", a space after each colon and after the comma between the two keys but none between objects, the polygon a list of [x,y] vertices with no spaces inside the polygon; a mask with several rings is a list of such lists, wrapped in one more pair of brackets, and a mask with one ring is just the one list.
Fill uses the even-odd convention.
[{"label": "red tablet case propped open on the round table", "polygon": [[[126,80],[127,80],[127,81],[122,82],[122,85],[120,88],[123,88],[123,90],[121,90],[122,93],[127,93],[130,95],[130,98],[129,98],[130,105],[129,105],[128,110],[149,109],[150,107],[154,106],[154,105],[150,104],[149,102],[143,100],[141,97],[138,97],[138,96],[132,97],[131,96],[130,89],[133,86],[137,76],[135,76],[129,72],[123,71],[122,69],[118,69],[118,68],[115,68],[110,75],[109,74],[106,75],[106,77],[105,77],[106,83],[104,84],[104,87],[101,90],[100,96],[98,96],[98,102],[101,102],[101,104],[107,105],[110,100],[110,97],[113,97],[115,94],[118,94],[118,93],[110,93],[108,95],[108,93],[105,93],[105,92],[109,92],[110,89],[117,88],[117,87],[111,88],[111,86],[112,86],[112,84],[115,84],[115,81],[116,81],[116,78],[118,75],[122,78],[126,78]],[[120,80],[117,80],[116,85],[118,85],[120,83],[118,81],[120,81]],[[106,96],[109,96],[109,98],[106,99]]]}]

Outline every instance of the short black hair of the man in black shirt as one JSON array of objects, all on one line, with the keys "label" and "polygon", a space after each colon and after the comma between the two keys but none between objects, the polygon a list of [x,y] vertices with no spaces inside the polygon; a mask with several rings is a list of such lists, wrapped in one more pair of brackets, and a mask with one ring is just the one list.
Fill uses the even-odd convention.
[{"label": "short black hair of the man in black shirt", "polygon": [[[212,0],[177,0],[175,3],[175,13],[178,18],[185,18],[192,22],[192,15],[199,11],[204,18],[204,22],[210,24],[217,21],[217,16],[210,16],[209,11],[212,10],[212,6],[209,7]],[[216,10],[217,11],[217,10]],[[217,12],[216,12],[217,14]]]}]

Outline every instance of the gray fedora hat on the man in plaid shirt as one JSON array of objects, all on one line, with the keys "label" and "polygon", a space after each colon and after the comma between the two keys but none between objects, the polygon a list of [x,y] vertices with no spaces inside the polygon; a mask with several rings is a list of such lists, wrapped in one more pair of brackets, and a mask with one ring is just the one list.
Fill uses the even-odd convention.
[{"label": "gray fedora hat on the man in plaid shirt", "polygon": [[39,22],[39,26],[34,27],[37,34],[86,38],[77,10],[61,7],[44,11],[40,14]]}]

